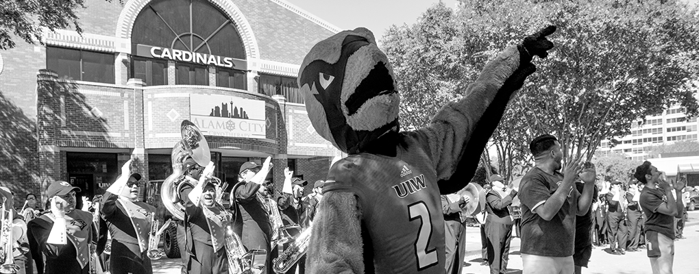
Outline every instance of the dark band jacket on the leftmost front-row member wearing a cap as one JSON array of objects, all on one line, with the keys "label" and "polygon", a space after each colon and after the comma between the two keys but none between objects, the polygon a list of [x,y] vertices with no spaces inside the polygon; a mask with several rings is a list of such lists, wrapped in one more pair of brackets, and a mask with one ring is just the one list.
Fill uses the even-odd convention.
[{"label": "dark band jacket on the leftmost front-row member wearing a cap", "polygon": [[36,251],[32,251],[36,252],[35,258],[41,259],[39,252],[46,258],[43,273],[88,274],[89,244],[96,239],[92,225],[92,214],[78,209],[66,213],[66,229],[69,236],[65,245],[46,243],[54,219],[53,214],[48,212],[31,220],[27,225],[30,247],[37,247]]}]

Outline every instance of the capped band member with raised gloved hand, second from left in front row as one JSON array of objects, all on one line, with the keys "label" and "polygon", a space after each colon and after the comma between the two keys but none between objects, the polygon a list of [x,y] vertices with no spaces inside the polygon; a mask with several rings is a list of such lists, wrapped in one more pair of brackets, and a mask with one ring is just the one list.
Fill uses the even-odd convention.
[{"label": "capped band member with raised gloved hand, second from left in front row", "polygon": [[140,174],[131,174],[130,165],[131,160],[122,166],[122,175],[107,189],[100,208],[112,236],[112,274],[153,271],[147,250],[155,208],[137,200]]}]

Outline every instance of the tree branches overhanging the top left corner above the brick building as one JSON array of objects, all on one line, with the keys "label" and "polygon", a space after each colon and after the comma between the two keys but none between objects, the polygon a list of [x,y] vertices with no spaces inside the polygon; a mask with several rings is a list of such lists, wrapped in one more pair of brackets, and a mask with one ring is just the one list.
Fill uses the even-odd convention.
[{"label": "tree branches overhanging the top left corner above the brick building", "polygon": [[75,10],[85,8],[83,3],[84,0],[0,0],[0,49],[15,48],[13,36],[30,44],[42,43],[43,28],[55,31],[72,24],[75,31],[82,33]]}]

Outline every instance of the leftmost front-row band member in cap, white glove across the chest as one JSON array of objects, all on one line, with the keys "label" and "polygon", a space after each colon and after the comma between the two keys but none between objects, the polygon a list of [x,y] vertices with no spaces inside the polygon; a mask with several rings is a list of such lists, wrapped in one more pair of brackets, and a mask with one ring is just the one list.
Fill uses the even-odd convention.
[{"label": "leftmost front-row band member in cap, white glove across the chest", "polygon": [[92,214],[75,209],[75,192],[80,188],[66,181],[52,182],[46,190],[51,211],[29,222],[36,253],[41,251],[46,258],[43,273],[89,273],[91,244],[96,236]]}]

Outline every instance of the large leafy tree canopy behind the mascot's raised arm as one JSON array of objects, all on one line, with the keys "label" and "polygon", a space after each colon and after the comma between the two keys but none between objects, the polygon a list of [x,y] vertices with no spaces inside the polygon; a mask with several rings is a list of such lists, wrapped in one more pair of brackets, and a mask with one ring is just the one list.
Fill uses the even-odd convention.
[{"label": "large leafy tree canopy behind the mascot's raised arm", "polygon": [[[401,92],[401,124],[422,127],[459,99],[487,60],[548,24],[556,48],[514,96],[493,145],[500,170],[531,162],[533,136],[559,137],[565,157],[593,157],[601,140],[679,104],[688,115],[699,78],[699,19],[682,1],[462,1],[442,3],[382,45]],[[503,166],[507,168],[503,169]],[[514,167],[513,167],[514,166]]]}]

